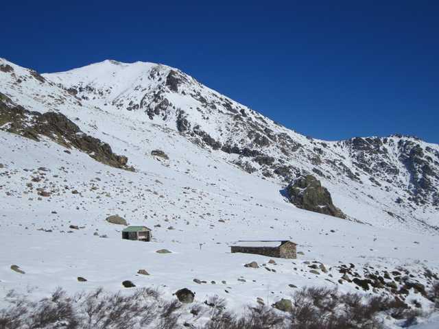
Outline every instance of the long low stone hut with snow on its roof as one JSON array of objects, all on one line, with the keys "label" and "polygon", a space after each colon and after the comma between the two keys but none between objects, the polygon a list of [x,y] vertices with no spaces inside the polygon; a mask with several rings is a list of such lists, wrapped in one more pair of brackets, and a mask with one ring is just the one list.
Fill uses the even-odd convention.
[{"label": "long low stone hut with snow on its roof", "polygon": [[237,241],[230,246],[231,252],[257,254],[276,258],[296,258],[296,243],[287,240],[277,241]]}]

